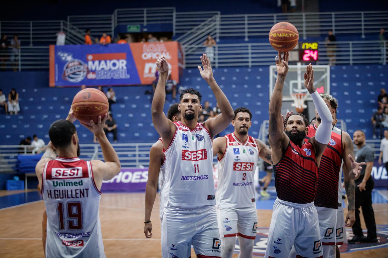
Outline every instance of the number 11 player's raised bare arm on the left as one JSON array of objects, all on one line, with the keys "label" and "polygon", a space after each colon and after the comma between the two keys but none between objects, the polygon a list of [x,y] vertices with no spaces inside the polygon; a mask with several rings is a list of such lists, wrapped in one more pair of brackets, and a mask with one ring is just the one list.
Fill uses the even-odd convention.
[{"label": "number 11 player's raised bare arm on the left", "polygon": [[171,143],[176,127],[163,112],[166,99],[166,81],[168,76],[168,63],[163,55],[158,58],[158,61],[156,61],[156,66],[159,70],[159,80],[158,84],[156,84],[154,98],[152,99],[152,122],[154,123],[156,131],[158,131],[162,136],[163,144],[167,147]]}]

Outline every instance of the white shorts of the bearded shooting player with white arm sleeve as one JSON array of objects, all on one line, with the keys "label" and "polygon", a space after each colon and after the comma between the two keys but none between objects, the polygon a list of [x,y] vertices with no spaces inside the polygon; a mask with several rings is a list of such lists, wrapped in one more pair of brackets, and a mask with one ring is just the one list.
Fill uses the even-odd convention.
[{"label": "white shorts of the bearded shooting player with white arm sleeve", "polygon": [[297,256],[323,257],[317,210],[313,202],[290,203],[276,198],[264,257],[287,258],[293,245]]}]

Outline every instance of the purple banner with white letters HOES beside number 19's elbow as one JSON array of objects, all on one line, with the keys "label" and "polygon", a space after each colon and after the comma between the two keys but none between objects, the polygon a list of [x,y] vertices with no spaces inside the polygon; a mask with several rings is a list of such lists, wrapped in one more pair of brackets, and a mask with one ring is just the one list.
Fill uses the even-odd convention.
[{"label": "purple banner with white letters HOES beside number 19's elbow", "polygon": [[148,168],[121,169],[120,173],[109,181],[102,181],[101,191],[145,191]]}]

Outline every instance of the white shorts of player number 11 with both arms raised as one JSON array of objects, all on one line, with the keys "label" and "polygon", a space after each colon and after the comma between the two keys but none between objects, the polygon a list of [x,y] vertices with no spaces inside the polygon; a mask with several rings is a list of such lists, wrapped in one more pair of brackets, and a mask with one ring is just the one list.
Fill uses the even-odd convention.
[{"label": "white shorts of player number 11 with both arms raised", "polygon": [[221,241],[214,206],[164,208],[162,257],[187,258],[191,245],[198,258],[220,258]]}]

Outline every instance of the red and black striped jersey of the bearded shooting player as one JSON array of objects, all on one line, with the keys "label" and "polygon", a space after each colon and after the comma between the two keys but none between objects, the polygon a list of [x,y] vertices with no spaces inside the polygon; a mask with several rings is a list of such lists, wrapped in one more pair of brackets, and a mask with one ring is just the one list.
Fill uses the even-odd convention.
[{"label": "red and black striped jersey of the bearded shooting player", "polygon": [[289,142],[281,160],[274,165],[277,197],[291,203],[311,203],[318,183],[314,146]]}]

